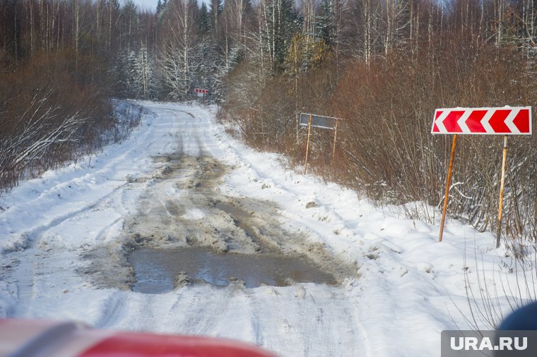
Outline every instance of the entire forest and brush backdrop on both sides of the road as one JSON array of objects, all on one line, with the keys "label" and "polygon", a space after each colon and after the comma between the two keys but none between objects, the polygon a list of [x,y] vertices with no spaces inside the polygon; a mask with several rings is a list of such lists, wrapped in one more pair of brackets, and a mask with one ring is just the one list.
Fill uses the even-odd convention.
[{"label": "entire forest and brush backdrop on both sides of the road", "polygon": [[[310,168],[432,221],[451,145],[430,135],[434,110],[536,104],[536,2],[0,0],[0,184],[95,147],[115,126],[110,97],[184,101],[200,87],[235,135],[296,165],[297,114],[342,118],[334,157],[333,132],[313,131]],[[537,239],[536,149],[509,138],[510,237]],[[495,228],[501,150],[501,137],[459,140],[452,217]]]}]

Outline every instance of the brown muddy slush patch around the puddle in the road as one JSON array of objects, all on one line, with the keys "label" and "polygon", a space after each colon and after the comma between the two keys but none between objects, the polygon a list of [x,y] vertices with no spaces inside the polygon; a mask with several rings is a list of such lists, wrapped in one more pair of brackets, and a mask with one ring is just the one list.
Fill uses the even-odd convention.
[{"label": "brown muddy slush patch around the puddle in the road", "polygon": [[[319,276],[324,270],[334,282],[342,282],[355,274],[356,267],[336,260],[326,247],[305,243],[307,239],[304,234],[283,229],[278,221],[278,207],[273,202],[230,198],[219,193],[218,184],[229,168],[213,157],[191,157],[178,153],[155,157],[154,160],[160,168],[150,181],[141,183],[146,185],[145,193],[138,200],[137,213],[124,219],[122,236],[105,246],[83,253],[86,267],[81,272],[88,274],[96,286],[131,289],[135,286],[136,273],[138,279],[146,279],[140,278],[141,274],[135,272],[139,268],[136,268],[133,258],[129,262],[127,257],[131,254],[136,257],[140,251],[151,251],[148,248],[164,255],[167,254],[163,253],[165,250],[176,252],[173,254],[197,252],[193,256],[198,257],[200,262],[211,256],[221,265],[223,272],[230,267],[230,277],[225,278],[228,279],[226,281],[232,275],[253,272],[256,269],[254,264],[264,259],[270,260],[261,264],[266,267],[272,265],[276,269],[280,265],[288,266],[283,274],[287,277],[272,274],[269,278],[271,274],[259,272],[251,275],[259,277],[255,278],[259,282],[256,280],[256,283],[250,284],[249,281],[254,278],[244,275],[246,280],[242,280],[247,283],[246,286],[278,285],[286,278],[294,280],[291,276],[295,274],[293,262],[298,270],[302,265],[307,265],[304,270],[312,271],[317,269],[314,265],[321,267],[316,275]],[[261,258],[261,255],[268,258]],[[299,255],[301,258],[297,259]],[[168,260],[155,259],[155,265],[167,264],[165,262]],[[240,260],[240,264],[235,263],[236,260]],[[252,265],[248,265],[249,260]],[[192,261],[189,265],[194,267],[195,263]],[[216,267],[213,268],[218,271]],[[188,267],[177,269],[188,272],[184,279],[179,279],[179,285],[200,279],[218,285],[224,279],[199,277],[195,269],[189,270]],[[180,271],[177,269],[169,270],[173,271],[170,274],[178,275]],[[173,282],[175,276],[167,279]],[[316,279],[305,281],[317,282]],[[328,282],[324,279],[319,281]]]}]

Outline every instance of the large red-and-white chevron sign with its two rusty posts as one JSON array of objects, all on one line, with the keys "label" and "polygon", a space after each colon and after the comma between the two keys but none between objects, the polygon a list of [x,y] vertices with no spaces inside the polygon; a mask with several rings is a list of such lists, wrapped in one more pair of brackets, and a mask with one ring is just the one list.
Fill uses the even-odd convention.
[{"label": "large red-and-white chevron sign with its two rusty posts", "polygon": [[436,109],[435,119],[432,121],[431,133],[454,134],[452,152],[449,157],[442,221],[440,222],[440,232],[438,236],[439,242],[442,241],[442,235],[444,233],[444,219],[446,217],[447,200],[449,198],[449,183],[452,178],[456,136],[458,134],[504,135],[502,178],[500,181],[500,198],[496,232],[496,248],[500,247],[505,166],[507,163],[507,135],[531,135],[531,107]]}]

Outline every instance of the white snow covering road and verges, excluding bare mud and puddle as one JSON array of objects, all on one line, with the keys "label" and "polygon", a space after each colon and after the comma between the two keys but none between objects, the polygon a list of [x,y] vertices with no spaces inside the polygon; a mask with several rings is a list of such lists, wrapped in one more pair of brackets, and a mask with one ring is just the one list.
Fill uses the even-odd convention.
[{"label": "white snow covering road and verges, excluding bare mud and puddle", "polygon": [[[149,114],[129,140],[0,196],[0,317],[229,337],[281,356],[439,356],[440,332],[464,329],[471,318],[466,286],[479,306],[489,289],[485,296],[500,305],[498,313],[509,310],[510,295],[524,296],[492,234],[448,222],[437,243],[439,226],[402,218],[396,207],[374,207],[352,190],[285,168],[278,155],[237,143],[215,123],[214,108],[141,104]],[[125,230],[140,224],[132,218],[141,217],[140,202],[194,200],[163,179],[169,167],[155,159],[177,152],[229,168],[215,194],[273,202],[281,228],[297,233],[278,244],[355,271],[339,286],[193,284],[141,294],[98,284],[97,258],[117,267],[118,276],[131,272],[113,251],[124,249]],[[209,224],[210,212],[192,208],[181,222]],[[220,218],[214,222],[225,222]],[[160,233],[163,222],[155,224]],[[103,246],[110,256],[95,253]]]}]

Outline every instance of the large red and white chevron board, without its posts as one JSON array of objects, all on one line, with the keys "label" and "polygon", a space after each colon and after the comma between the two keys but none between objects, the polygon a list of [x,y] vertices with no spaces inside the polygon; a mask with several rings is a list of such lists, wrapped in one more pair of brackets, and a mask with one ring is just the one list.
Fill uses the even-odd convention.
[{"label": "large red and white chevron board, without its posts", "polygon": [[436,109],[431,133],[531,135],[531,107]]}]

